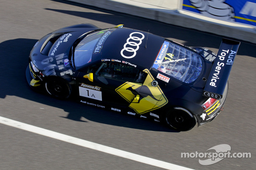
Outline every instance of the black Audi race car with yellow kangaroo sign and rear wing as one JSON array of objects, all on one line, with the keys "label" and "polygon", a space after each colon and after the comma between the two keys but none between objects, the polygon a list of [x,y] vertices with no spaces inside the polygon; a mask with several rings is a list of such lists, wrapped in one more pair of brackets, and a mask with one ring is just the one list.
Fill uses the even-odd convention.
[{"label": "black Audi race car with yellow kangaroo sign and rear wing", "polygon": [[53,97],[73,96],[186,131],[223,110],[239,44],[222,39],[215,54],[123,25],[79,24],[37,41],[26,77],[33,89]]}]

